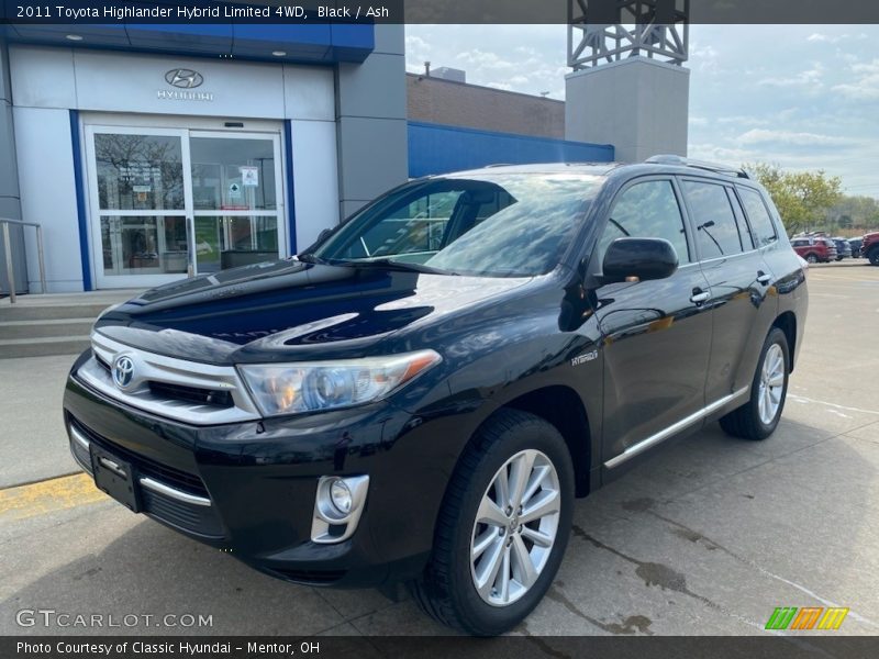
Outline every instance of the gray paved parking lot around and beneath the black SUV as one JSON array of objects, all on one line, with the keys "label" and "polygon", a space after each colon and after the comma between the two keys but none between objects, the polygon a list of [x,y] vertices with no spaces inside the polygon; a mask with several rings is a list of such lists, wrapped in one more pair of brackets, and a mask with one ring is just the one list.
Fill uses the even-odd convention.
[{"label": "gray paved parking lot around and beneath the black SUV", "polygon": [[[777,606],[848,607],[830,634],[879,634],[879,268],[865,263],[810,269],[805,339],[776,434],[748,443],[714,424],[579,501],[557,580],[514,634],[761,635]],[[44,384],[71,360],[0,361],[1,400],[26,398],[2,410],[0,472],[27,460],[76,471],[60,386]],[[51,457],[30,456],[29,433],[52,424],[57,436],[37,444]],[[447,633],[410,600],[264,577],[129,513],[84,477],[16,488],[25,474],[14,473],[0,481],[0,634]],[[16,623],[37,608],[154,617]],[[168,614],[212,624],[156,627]]]}]

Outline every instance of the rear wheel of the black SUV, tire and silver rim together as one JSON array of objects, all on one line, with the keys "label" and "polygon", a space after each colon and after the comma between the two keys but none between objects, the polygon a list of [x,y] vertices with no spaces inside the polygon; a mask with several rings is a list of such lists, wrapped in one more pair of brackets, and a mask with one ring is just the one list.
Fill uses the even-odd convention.
[{"label": "rear wheel of the black SUV, tire and silver rim together", "polygon": [[771,435],[785,410],[790,373],[788,337],[772,327],[760,350],[757,370],[750,383],[750,399],[720,421],[727,435],[744,439],[766,439]]}]

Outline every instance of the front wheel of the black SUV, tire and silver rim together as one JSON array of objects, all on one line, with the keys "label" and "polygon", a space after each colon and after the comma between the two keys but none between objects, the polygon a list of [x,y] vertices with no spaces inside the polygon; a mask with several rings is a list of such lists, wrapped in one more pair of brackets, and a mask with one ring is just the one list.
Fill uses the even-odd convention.
[{"label": "front wheel of the black SUV, tire and silver rim together", "polygon": [[449,482],[434,551],[412,584],[439,623],[496,636],[524,619],[552,585],[574,505],[574,467],[552,424],[501,410],[480,428]]}]

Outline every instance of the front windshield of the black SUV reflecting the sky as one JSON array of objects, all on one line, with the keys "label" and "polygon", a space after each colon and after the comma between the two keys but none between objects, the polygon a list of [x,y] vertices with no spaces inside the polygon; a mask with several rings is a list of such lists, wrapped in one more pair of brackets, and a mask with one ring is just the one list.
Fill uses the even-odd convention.
[{"label": "front windshield of the black SUV reflecting the sky", "polygon": [[544,275],[558,265],[603,180],[507,174],[413,181],[352,217],[312,256],[480,277]]}]

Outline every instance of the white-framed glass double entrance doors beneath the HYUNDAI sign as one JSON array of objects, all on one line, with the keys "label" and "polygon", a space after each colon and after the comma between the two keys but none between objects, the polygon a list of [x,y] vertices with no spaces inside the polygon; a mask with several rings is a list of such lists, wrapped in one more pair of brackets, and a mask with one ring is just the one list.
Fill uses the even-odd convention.
[{"label": "white-framed glass double entrance doors beneath the HYUNDAI sign", "polygon": [[285,253],[279,135],[88,126],[87,152],[98,288]]}]

